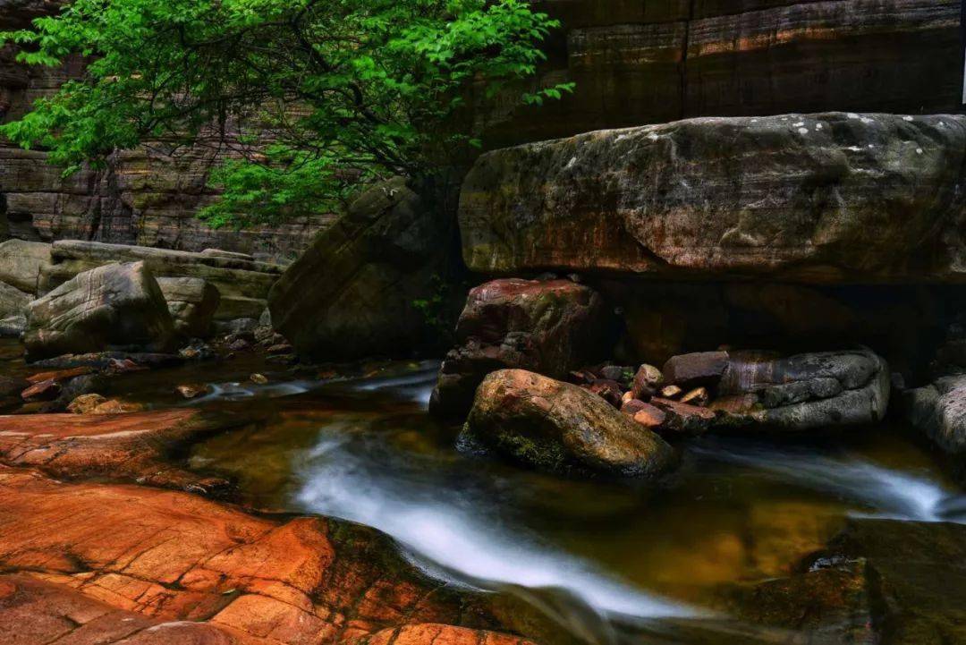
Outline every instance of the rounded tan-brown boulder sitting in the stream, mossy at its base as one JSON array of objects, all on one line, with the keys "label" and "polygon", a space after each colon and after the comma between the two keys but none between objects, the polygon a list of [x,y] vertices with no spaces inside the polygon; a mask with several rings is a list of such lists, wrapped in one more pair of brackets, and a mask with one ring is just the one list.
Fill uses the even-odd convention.
[{"label": "rounded tan-brown boulder sitting in the stream, mossy at its base", "polygon": [[524,370],[483,380],[466,433],[517,462],[555,472],[658,478],[676,460],[664,439],[596,394]]}]

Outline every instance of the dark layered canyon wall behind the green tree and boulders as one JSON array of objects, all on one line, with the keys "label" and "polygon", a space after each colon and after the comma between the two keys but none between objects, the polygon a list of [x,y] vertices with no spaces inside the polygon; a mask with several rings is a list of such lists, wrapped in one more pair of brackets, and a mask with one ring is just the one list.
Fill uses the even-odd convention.
[{"label": "dark layered canyon wall behind the green tree and boulders", "polygon": [[[0,0],[0,29],[55,11],[45,0]],[[691,116],[828,109],[958,111],[962,82],[954,0],[543,0],[565,28],[538,80],[577,83],[542,109],[507,106],[486,124],[487,147]],[[0,52],[0,116],[82,72],[28,69]],[[328,217],[270,229],[213,231],[194,218],[214,198],[219,153],[177,159],[153,149],[63,178],[43,152],[0,145],[0,238],[85,238],[183,250],[218,247],[260,259],[298,254]]]}]

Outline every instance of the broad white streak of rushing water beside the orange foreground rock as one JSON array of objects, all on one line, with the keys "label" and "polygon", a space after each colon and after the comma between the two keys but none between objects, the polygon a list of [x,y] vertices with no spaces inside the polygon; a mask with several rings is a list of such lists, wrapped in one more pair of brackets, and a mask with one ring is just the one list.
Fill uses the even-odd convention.
[{"label": "broad white streak of rushing water beside the orange foreground rock", "polygon": [[[408,547],[417,563],[481,588],[516,585],[563,590],[601,615],[694,616],[696,611],[641,592],[587,562],[502,524],[492,500],[440,479],[394,476],[328,435],[303,471],[298,500],[306,509],[378,528]],[[418,469],[418,468],[416,468]],[[434,573],[439,574],[439,571]]]}]

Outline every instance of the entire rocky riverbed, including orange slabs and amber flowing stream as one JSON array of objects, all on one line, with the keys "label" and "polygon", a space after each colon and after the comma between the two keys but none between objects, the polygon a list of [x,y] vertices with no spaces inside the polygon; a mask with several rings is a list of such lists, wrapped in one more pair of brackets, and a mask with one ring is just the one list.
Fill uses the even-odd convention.
[{"label": "entire rocky riverbed, including orange slabs and amber flowing stream", "polygon": [[561,477],[434,421],[438,363],[212,351],[99,375],[137,411],[0,417],[5,642],[962,637],[966,503],[903,422],[668,437],[662,478]]}]

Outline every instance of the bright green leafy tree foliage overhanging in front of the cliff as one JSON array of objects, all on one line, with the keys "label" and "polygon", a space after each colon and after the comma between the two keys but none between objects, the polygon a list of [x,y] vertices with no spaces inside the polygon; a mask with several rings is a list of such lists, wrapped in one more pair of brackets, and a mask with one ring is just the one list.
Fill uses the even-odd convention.
[{"label": "bright green leafy tree foliage overhanging in front of the cliff", "polygon": [[324,212],[359,182],[478,145],[468,98],[571,91],[510,89],[555,26],[526,0],[73,0],[0,34],[28,64],[91,57],[0,134],[67,172],[145,140],[210,145],[232,157],[213,175],[214,225]]}]

